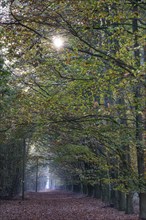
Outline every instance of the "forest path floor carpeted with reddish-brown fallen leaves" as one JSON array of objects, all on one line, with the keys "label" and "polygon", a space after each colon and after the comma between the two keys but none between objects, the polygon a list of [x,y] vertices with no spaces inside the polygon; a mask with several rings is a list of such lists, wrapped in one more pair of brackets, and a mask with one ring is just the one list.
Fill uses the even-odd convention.
[{"label": "forest path floor carpeted with reddish-brown fallen leaves", "polygon": [[107,207],[100,200],[64,191],[25,195],[25,200],[0,201],[0,220],[138,220]]}]

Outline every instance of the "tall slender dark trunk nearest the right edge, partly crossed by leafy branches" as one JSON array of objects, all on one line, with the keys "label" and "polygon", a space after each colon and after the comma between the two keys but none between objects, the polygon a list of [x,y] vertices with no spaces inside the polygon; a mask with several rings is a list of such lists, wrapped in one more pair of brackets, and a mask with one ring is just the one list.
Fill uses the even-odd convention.
[{"label": "tall slender dark trunk nearest the right edge, partly crossed by leafy branches", "polygon": [[[140,66],[140,50],[138,44],[138,3],[139,0],[133,0],[133,13],[135,17],[133,18],[132,28],[134,34],[134,56],[135,56],[135,63],[137,66]],[[145,51],[144,51],[145,53]],[[145,59],[145,57],[144,57]],[[141,112],[139,111],[138,105],[143,98],[143,90],[142,85],[137,85],[135,91],[135,98],[137,100],[136,103],[136,140],[137,140],[137,160],[138,160],[138,173],[139,173],[139,180],[145,178],[145,149],[142,146],[142,141],[145,139],[144,135],[144,128],[143,128],[143,117]],[[144,88],[145,90],[145,88]],[[145,120],[145,117],[144,117]],[[143,187],[142,187],[143,188]],[[139,193],[139,206],[140,206],[140,219],[146,220],[146,191],[143,190],[140,186],[140,193]]]}]

